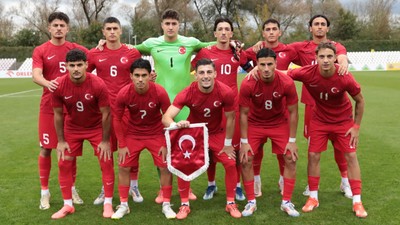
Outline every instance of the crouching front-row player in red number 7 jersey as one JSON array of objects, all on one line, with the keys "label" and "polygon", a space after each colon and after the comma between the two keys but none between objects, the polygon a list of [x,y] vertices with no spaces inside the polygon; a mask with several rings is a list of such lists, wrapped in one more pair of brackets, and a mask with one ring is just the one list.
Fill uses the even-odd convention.
[{"label": "crouching front-row player in red number 7 jersey", "polygon": [[[162,212],[166,218],[176,217],[171,209],[172,175],[165,161],[166,148],[162,113],[166,112],[170,101],[165,89],[150,82],[151,65],[144,59],[137,59],[130,68],[131,83],[123,87],[115,103],[114,126],[118,137],[119,184],[121,204],[112,215],[120,219],[129,213],[128,191],[131,167],[138,166],[140,152],[147,148],[153,156],[154,164],[160,170],[160,183],[163,192]],[[122,119],[125,110],[129,111],[129,122],[125,131]]]}]

